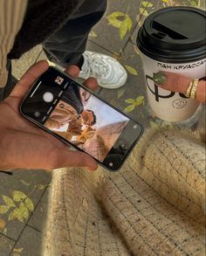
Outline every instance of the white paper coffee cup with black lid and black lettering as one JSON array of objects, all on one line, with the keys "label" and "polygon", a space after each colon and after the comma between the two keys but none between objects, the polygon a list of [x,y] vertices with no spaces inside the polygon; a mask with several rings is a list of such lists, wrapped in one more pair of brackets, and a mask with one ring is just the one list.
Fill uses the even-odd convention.
[{"label": "white paper coffee cup with black lid and black lettering", "polygon": [[148,103],[164,121],[185,121],[199,103],[182,93],[156,86],[154,73],[171,72],[191,79],[205,77],[206,12],[192,7],[168,7],[154,11],[141,26],[137,45],[141,51]]}]

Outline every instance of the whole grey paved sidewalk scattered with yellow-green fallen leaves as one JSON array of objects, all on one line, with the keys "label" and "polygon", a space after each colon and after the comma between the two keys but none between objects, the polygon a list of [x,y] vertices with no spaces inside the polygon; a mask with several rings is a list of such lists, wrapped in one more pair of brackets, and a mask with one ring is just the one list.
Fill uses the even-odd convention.
[{"label": "whole grey paved sidewalk scattered with yellow-green fallen leaves", "polygon": [[[128,79],[118,90],[100,88],[100,96],[131,114],[146,128],[161,126],[154,116],[146,114],[141,58],[135,48],[137,31],[154,10],[174,5],[204,9],[204,4],[203,0],[108,0],[106,15],[90,33],[87,50],[118,59],[126,67]],[[13,61],[13,75],[19,79],[40,59],[46,58],[38,45]],[[0,256],[41,255],[51,178],[43,170],[17,170],[12,176],[0,173]]]}]

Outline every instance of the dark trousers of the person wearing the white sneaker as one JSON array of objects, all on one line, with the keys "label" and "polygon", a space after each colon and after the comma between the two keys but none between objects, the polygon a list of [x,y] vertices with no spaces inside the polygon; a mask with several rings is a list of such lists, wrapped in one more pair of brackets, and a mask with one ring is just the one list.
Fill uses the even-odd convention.
[{"label": "dark trousers of the person wearing the white sneaker", "polygon": [[[106,0],[84,0],[67,20],[66,24],[43,43],[43,49],[51,61],[62,66],[77,64],[86,50],[86,42],[93,25],[100,21],[106,10]],[[8,97],[15,83],[11,78],[11,64],[8,60],[9,77],[5,87],[0,89],[0,101]]]}]

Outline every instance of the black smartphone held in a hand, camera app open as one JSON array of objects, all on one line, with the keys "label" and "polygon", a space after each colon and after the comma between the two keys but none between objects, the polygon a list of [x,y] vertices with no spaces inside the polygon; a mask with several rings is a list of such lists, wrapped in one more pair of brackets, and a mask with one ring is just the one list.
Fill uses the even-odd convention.
[{"label": "black smartphone held in a hand, camera app open", "polygon": [[138,121],[54,67],[38,78],[20,112],[110,171],[120,169],[143,133]]}]

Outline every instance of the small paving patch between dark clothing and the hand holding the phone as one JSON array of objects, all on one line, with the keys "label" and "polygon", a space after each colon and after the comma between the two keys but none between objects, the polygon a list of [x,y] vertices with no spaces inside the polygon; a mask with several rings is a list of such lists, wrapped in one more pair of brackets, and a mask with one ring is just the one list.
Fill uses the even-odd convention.
[{"label": "small paving patch between dark clothing and the hand holding the phone", "polygon": [[12,60],[12,74],[18,80],[27,71],[27,69],[36,62],[38,55],[42,50],[41,45],[37,45],[29,52],[25,52],[20,59]]}]

